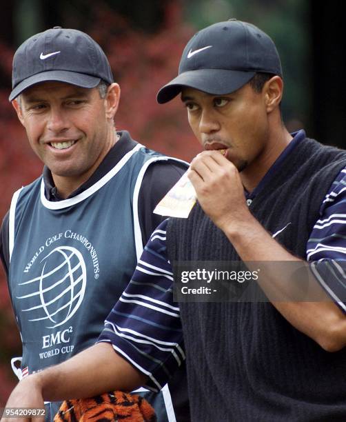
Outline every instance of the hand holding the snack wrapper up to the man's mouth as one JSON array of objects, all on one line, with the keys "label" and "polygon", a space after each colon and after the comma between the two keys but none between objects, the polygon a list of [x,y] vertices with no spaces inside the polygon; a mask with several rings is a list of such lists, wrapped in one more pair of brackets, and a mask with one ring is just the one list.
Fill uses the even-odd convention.
[{"label": "hand holding the snack wrapper up to the man's mouth", "polygon": [[250,217],[239,172],[220,152],[198,154],[192,160],[188,177],[203,211],[221,230],[230,228],[238,219]]}]

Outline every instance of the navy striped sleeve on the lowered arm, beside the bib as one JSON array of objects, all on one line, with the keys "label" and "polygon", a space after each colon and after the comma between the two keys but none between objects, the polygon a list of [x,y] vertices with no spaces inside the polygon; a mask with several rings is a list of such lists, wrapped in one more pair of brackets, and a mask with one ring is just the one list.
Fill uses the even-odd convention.
[{"label": "navy striped sleeve on the lowered arm, beside the bib", "polygon": [[167,261],[167,220],[152,233],[128,287],[105,320],[99,342],[148,376],[159,391],[185,359],[179,307],[173,302],[173,274]]}]

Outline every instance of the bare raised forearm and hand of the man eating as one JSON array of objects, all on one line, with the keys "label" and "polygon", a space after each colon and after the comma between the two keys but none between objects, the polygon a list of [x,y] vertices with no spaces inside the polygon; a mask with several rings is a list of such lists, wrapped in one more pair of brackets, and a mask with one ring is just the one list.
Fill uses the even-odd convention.
[{"label": "bare raised forearm and hand of the man eating", "polygon": [[[239,257],[252,261],[303,261],[285,250],[252,216],[244,196],[241,177],[236,167],[218,151],[205,151],[192,161],[188,174],[205,214],[223,230]],[[294,274],[286,271],[278,277],[276,265],[266,265],[258,283],[267,297],[278,297],[292,287]],[[289,267],[287,267],[289,268]],[[294,267],[293,267],[294,268]],[[294,278],[293,278],[294,279]],[[320,301],[273,301],[289,323],[330,352],[346,345],[346,319],[314,277],[314,294]],[[286,289],[286,290],[285,290]],[[294,294],[293,294],[294,297]]]}]

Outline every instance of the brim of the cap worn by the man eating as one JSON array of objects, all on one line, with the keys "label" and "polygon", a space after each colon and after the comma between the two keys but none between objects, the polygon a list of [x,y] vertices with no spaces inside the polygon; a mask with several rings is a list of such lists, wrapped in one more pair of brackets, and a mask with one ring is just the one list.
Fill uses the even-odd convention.
[{"label": "brim of the cap worn by the man eating", "polygon": [[189,70],[163,86],[157,93],[157,102],[167,103],[185,87],[207,92],[207,94],[230,94],[245,85],[255,74],[255,71],[242,72],[225,69]]}]

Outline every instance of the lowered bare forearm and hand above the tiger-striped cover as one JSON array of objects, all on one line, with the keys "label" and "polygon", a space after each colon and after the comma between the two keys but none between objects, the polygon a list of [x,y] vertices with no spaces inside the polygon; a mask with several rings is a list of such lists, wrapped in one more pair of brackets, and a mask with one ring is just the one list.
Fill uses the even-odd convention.
[{"label": "lowered bare forearm and hand above the tiger-striped cover", "polygon": [[97,343],[59,365],[21,380],[6,408],[43,408],[43,399],[85,399],[112,390],[131,391],[146,380],[147,376],[114,352],[112,345]]}]

